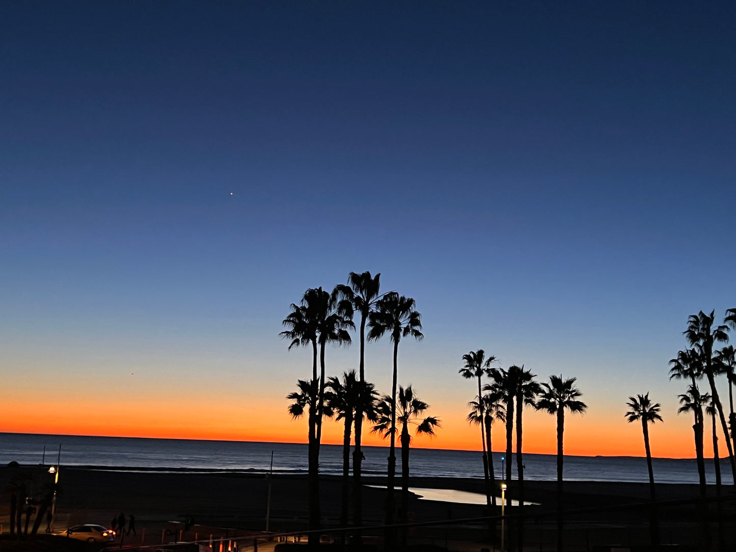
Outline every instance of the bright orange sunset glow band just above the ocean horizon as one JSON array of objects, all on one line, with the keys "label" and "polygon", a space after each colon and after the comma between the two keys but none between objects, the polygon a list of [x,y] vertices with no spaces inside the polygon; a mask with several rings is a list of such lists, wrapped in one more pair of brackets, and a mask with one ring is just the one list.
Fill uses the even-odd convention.
[{"label": "bright orange sunset glow band just above the ocean horizon", "polygon": [[[87,399],[79,408],[74,397],[49,398],[29,409],[30,396],[15,396],[0,404],[0,431],[9,433],[148,437],[158,439],[204,439],[258,442],[306,442],[306,421],[291,420],[285,401],[277,406],[266,400],[250,400],[247,406],[227,400],[202,397],[155,397],[141,401]],[[445,412],[442,428],[434,438],[417,437],[417,448],[479,450],[477,426],[464,420],[457,408],[436,406]],[[93,415],[91,415],[91,413]],[[628,424],[623,416],[570,417],[565,428],[565,454],[576,456],[643,456],[641,426]],[[651,428],[654,456],[692,458],[692,430],[686,420],[667,420]],[[503,425],[493,426],[493,450],[505,448]],[[515,431],[514,431],[515,434]],[[524,452],[555,454],[553,417],[534,411],[524,414]],[[342,423],[325,420],[322,442],[342,445]],[[388,442],[364,431],[364,445],[386,446]],[[514,445],[515,450],[515,445]],[[706,450],[706,455],[709,453]]]}]

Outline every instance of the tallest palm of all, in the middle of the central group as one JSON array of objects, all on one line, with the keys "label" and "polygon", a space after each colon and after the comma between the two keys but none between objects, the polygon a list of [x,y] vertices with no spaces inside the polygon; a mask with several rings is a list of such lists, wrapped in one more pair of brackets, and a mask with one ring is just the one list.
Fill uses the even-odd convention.
[{"label": "tallest palm of all, in the middle of the central group", "polygon": [[[353,306],[355,312],[361,314],[360,324],[360,363],[358,372],[361,382],[365,378],[365,338],[366,323],[376,303],[383,297],[381,295],[381,273],[371,276],[370,272],[350,272],[347,276],[347,286],[340,284],[336,291],[341,294],[343,300],[347,300]],[[363,411],[360,406],[355,410],[355,447],[353,448],[353,525],[363,525],[363,484],[361,483],[363,451],[361,442],[363,439]]]}]

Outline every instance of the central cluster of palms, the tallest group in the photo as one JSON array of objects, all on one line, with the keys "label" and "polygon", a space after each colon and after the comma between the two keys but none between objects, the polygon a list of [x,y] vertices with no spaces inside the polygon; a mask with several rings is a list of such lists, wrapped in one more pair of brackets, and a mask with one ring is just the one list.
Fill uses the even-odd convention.
[{"label": "central cluster of palms, the tallest group in the photo", "polygon": [[[411,441],[409,428],[416,426],[417,433],[434,435],[439,420],[422,415],[429,408],[420,400],[414,389],[398,386],[398,347],[402,339],[422,339],[422,316],[414,299],[396,291],[381,293],[381,275],[370,272],[350,272],[347,285],[339,284],[331,292],[320,288],[305,291],[297,305],[291,304],[289,315],[283,319],[286,328],[280,333],[290,340],[291,347],[311,347],[311,380],[297,381],[297,391],[287,398],[291,400],[292,417],[308,417],[308,503],[309,525],[319,529],[319,446],[322,442],[322,423],[325,417],[336,415],[344,422],[343,487],[341,517],[347,526],[350,498],[350,437],[355,430],[353,450],[353,526],[363,525],[361,503],[361,440],[363,422],[373,422],[372,431],[389,439],[388,481],[386,498],[386,525],[394,523],[394,484],[396,475],[397,422],[400,427],[402,447],[403,499],[400,513],[406,520],[408,502],[408,448]],[[358,335],[360,357],[358,373],[350,371],[341,378],[325,378],[325,348],[351,342],[350,331],[355,330],[355,316],[360,316]],[[393,373],[391,394],[379,398],[375,386],[365,378],[365,343],[388,336],[393,344]],[[319,370],[318,370],[319,358]],[[398,387],[398,389],[397,389]],[[309,542],[319,542],[319,534],[312,532]]]}]

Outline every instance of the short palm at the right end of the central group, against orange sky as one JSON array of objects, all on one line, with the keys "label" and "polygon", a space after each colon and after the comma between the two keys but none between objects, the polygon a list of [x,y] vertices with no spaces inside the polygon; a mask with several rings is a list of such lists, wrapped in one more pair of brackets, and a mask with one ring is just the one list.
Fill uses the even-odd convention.
[{"label": "short palm at the right end of the central group, against orange sky", "polygon": [[401,425],[401,523],[407,523],[408,500],[409,500],[409,445],[411,444],[411,433],[409,426],[415,425],[415,434],[434,436],[440,427],[439,420],[434,416],[422,419],[422,415],[429,409],[429,405],[414,394],[414,389],[408,386],[406,389],[399,387],[397,408],[394,409],[394,401],[391,397],[383,397],[376,408],[378,420],[373,426],[372,433],[378,433],[386,437],[392,436],[396,431],[396,421]]}]

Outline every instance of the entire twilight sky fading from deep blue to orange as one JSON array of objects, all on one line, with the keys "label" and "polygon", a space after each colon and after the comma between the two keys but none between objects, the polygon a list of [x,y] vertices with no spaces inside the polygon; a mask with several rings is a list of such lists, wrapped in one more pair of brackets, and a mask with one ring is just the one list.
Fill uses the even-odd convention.
[{"label": "entire twilight sky fading from deep blue to orange", "polygon": [[[650,392],[654,456],[693,456],[668,361],[736,307],[733,6],[1,10],[0,431],[305,442],[281,321],[369,270],[422,313],[399,383],[442,429],[416,446],[480,447],[457,372],[483,348],[578,378],[567,453],[643,455]],[[388,391],[391,344],[366,359]]]}]

